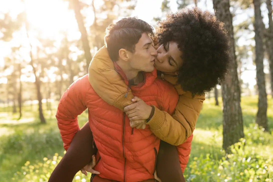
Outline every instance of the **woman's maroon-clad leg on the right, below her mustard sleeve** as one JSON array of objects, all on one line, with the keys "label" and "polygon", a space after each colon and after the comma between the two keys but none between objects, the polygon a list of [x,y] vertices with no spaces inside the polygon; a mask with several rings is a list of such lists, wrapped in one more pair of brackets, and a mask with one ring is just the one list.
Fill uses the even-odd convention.
[{"label": "woman's maroon-clad leg on the right, below her mustard sleeve", "polygon": [[156,172],[162,182],[185,182],[176,146],[160,141]]}]

